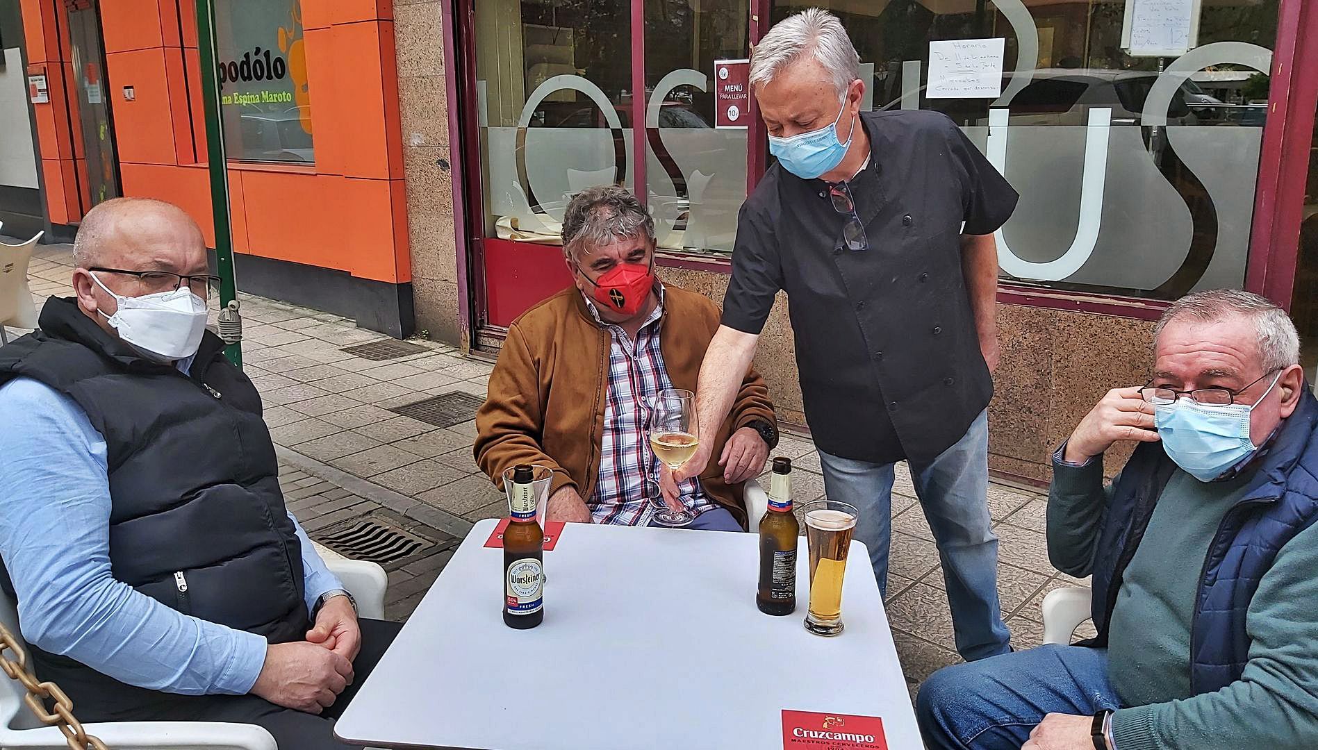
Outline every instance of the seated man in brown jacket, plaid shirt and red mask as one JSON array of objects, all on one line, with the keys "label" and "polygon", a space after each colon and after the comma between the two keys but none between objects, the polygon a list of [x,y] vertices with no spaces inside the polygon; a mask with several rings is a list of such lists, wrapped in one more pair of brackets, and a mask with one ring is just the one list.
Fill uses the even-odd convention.
[{"label": "seated man in brown jacket, plaid shirt and red mask", "polygon": [[774,405],[754,369],[699,477],[673,485],[646,435],[662,389],[695,390],[718,308],[655,279],[654,220],[622,187],[572,199],[563,252],[575,286],[509,327],[476,415],[476,461],[500,486],[509,467],[552,468],[551,521],[648,525],[648,478],[696,517],[689,527],[745,529],[743,482],[778,443]]}]

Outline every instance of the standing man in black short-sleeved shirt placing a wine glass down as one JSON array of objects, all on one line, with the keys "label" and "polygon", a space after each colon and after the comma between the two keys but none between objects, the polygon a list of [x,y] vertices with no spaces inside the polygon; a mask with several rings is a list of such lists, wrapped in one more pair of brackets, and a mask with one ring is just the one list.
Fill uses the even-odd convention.
[{"label": "standing man in black short-sleeved shirt placing a wine glass down", "polygon": [[[905,459],[948,584],[957,650],[1010,650],[988,518],[987,406],[998,365],[992,232],[1016,192],[941,113],[862,112],[842,24],[804,11],[751,59],[770,167],[741,208],[722,327],[700,370],[700,424],[718,426],[787,291],[805,417],[828,496],[855,505],[880,592],[892,465]],[[687,463],[705,465],[713,435]],[[721,459],[737,471],[742,456]]]}]

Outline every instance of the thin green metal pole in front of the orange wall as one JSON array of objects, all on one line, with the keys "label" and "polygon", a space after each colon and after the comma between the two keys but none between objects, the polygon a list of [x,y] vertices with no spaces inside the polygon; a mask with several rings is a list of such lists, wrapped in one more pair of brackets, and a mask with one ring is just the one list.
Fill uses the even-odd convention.
[{"label": "thin green metal pole in front of the orange wall", "polygon": [[[215,217],[215,261],[220,277],[220,308],[237,299],[233,274],[233,237],[229,231],[229,175],[224,156],[224,129],[220,127],[220,86],[215,74],[215,4],[196,0],[196,46],[202,59],[202,101],[206,117],[206,154],[211,171],[211,212]],[[225,356],[243,366],[243,344],[229,344]]]}]

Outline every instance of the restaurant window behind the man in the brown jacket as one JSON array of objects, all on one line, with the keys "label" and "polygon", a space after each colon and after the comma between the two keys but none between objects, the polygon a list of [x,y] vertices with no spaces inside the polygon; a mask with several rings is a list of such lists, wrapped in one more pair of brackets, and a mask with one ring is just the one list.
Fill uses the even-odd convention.
[{"label": "restaurant window behind the man in the brown jacket", "polygon": [[630,0],[480,0],[473,22],[485,237],[558,243],[573,195],[622,185],[645,196],[662,249],[731,250],[746,130],[714,129],[712,78],[716,59],[747,57],[747,0],[647,0],[643,25]]}]

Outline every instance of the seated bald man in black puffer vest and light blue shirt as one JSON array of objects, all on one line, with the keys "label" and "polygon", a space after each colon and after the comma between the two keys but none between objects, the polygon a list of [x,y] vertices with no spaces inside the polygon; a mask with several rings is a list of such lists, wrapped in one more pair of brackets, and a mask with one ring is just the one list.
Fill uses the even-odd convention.
[{"label": "seated bald man in black puffer vest and light blue shirt", "polygon": [[357,620],[283,506],[261,399],[206,331],[200,229],[108,200],[74,262],[75,297],[0,348],[0,585],[37,676],[84,722],[345,747],[333,718],[398,626]]}]

